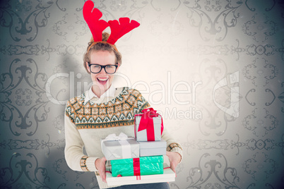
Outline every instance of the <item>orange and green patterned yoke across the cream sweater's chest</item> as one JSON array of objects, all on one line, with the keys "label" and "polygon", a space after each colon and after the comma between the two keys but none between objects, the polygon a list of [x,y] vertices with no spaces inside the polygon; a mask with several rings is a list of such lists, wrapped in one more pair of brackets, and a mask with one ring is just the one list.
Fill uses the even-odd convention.
[{"label": "orange and green patterned yoke across the cream sweater's chest", "polygon": [[130,126],[134,124],[134,115],[148,106],[138,90],[124,87],[117,97],[102,104],[85,102],[85,93],[70,99],[66,115],[77,129]]}]

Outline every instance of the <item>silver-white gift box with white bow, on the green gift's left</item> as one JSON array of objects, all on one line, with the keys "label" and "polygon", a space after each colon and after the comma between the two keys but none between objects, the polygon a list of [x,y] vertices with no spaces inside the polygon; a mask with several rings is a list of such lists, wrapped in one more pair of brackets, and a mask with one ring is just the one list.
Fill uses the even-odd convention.
[{"label": "silver-white gift box with white bow, on the green gift's left", "polygon": [[[120,134],[122,135],[122,134]],[[139,157],[139,144],[135,138],[119,137],[112,140],[112,138],[106,138],[102,140],[102,153],[107,160],[113,159],[129,159]]]}]

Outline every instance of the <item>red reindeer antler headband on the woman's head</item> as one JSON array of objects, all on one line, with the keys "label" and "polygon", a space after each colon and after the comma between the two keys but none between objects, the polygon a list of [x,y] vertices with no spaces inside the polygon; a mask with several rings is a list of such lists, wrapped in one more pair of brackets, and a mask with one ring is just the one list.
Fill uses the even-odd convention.
[{"label": "red reindeer antler headband on the woman's head", "polygon": [[119,21],[110,20],[108,22],[106,22],[105,20],[100,20],[100,18],[102,18],[102,13],[99,9],[94,8],[94,3],[90,0],[85,1],[85,4],[83,6],[83,16],[86,23],[88,23],[90,32],[92,32],[94,39],[94,42],[90,45],[88,51],[91,47],[93,47],[93,45],[97,44],[98,42],[102,42],[102,32],[103,30],[105,30],[105,28],[110,26],[111,33],[110,37],[107,39],[107,42],[102,43],[111,44],[112,47],[114,47],[114,49],[117,51],[114,43],[117,42],[117,40],[124,36],[126,33],[130,32],[140,25],[135,20],[131,20],[131,22],[129,23],[129,18],[119,18]]}]

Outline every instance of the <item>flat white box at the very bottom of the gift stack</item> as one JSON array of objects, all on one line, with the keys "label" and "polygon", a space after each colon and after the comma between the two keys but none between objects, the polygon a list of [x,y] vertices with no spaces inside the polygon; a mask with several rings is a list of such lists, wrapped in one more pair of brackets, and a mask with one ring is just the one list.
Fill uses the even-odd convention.
[{"label": "flat white box at the very bottom of the gift stack", "polygon": [[107,185],[130,185],[143,183],[165,183],[174,182],[176,174],[167,164],[164,164],[164,173],[159,175],[145,175],[145,176],[122,176],[114,177],[110,171],[107,171]]}]

